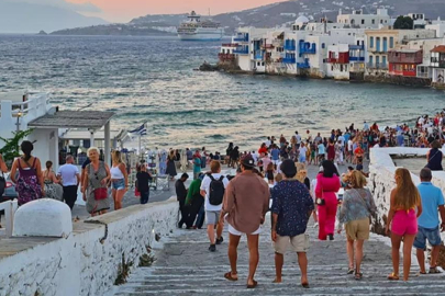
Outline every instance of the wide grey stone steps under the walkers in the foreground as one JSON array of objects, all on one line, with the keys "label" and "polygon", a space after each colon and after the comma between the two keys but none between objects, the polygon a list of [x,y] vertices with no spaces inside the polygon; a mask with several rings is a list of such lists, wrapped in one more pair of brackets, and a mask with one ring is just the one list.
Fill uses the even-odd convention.
[{"label": "wide grey stone steps under the walkers in the foreground", "polygon": [[[311,250],[309,259],[310,288],[300,286],[297,255],[288,252],[285,258],[283,282],[275,278],[274,250],[269,226],[260,236],[260,262],[255,280],[258,286],[246,289],[248,252],[245,238],[238,247],[238,281],[229,282],[223,274],[230,271],[226,255],[227,242],[218,251],[208,251],[205,230],[178,230],[178,236],[165,243],[157,252],[152,267],[140,267],[114,295],[445,295],[445,275],[419,276],[413,258],[410,282],[389,282],[392,271],[390,247],[378,236],[365,243],[364,278],[346,275],[347,259],[344,234],[335,241],[318,241],[316,228],[309,226]],[[227,240],[227,234],[224,234]],[[402,269],[401,269],[402,271]]]}]

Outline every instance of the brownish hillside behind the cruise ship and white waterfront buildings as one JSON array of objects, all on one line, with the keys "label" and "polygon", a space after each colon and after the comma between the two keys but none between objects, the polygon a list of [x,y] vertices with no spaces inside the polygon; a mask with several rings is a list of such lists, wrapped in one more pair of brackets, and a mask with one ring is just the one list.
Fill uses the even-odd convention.
[{"label": "brownish hillside behind the cruise ship and white waterfront buildings", "polygon": [[[425,13],[429,19],[443,16],[445,19],[445,0],[289,0],[238,12],[223,13],[213,15],[211,19],[220,22],[225,27],[227,35],[240,26],[275,27],[289,25],[293,23],[299,15],[307,15],[312,20],[319,21],[327,16],[335,21],[338,10],[348,13],[353,10],[364,10],[364,13],[376,13],[378,8],[387,8],[390,15],[397,16],[410,12]],[[204,19],[207,16],[203,16]],[[175,27],[181,21],[187,19],[187,14],[158,14],[146,15],[132,20],[127,24],[120,24],[120,31],[123,26],[133,27],[138,34],[151,34],[153,30],[175,33]],[[131,31],[129,29],[129,31]],[[87,34],[92,32],[102,32],[104,34],[118,34],[116,29],[99,30],[94,27],[68,30],[55,32],[56,34]]]}]

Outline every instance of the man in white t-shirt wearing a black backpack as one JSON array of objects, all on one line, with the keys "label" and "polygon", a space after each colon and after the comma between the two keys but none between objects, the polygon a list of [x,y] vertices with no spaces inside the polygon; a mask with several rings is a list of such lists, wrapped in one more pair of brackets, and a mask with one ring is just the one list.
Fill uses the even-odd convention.
[{"label": "man in white t-shirt wearing a black backpack", "polygon": [[[216,251],[216,244],[223,241],[222,225],[219,225],[220,213],[224,198],[225,187],[229,184],[227,178],[221,174],[220,161],[210,162],[211,173],[205,174],[201,183],[201,195],[204,196],[204,208],[207,216],[207,234],[210,240],[209,251]],[[216,237],[214,228],[216,228]]]}]

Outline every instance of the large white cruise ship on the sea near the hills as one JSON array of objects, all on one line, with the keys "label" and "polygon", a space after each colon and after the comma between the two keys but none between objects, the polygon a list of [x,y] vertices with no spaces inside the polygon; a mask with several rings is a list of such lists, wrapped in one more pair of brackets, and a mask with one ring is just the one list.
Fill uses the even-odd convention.
[{"label": "large white cruise ship on the sea near the hills", "polygon": [[178,36],[181,41],[221,41],[224,29],[210,20],[201,22],[201,15],[192,11],[188,20],[179,25]]}]

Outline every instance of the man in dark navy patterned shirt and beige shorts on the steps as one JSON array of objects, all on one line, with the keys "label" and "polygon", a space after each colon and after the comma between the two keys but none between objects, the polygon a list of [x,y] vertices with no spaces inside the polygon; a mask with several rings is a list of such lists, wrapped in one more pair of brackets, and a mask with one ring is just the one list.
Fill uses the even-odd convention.
[{"label": "man in dark navy patterned shirt and beige shorts on the steps", "polygon": [[309,288],[308,258],[309,236],[305,235],[309,218],[314,209],[313,200],[308,187],[294,180],[297,168],[292,160],[286,159],[281,163],[285,179],[271,191],[271,239],[275,248],[276,278],[274,283],[281,283],[281,271],[285,253],[290,244],[298,254],[301,271],[301,285]]}]

